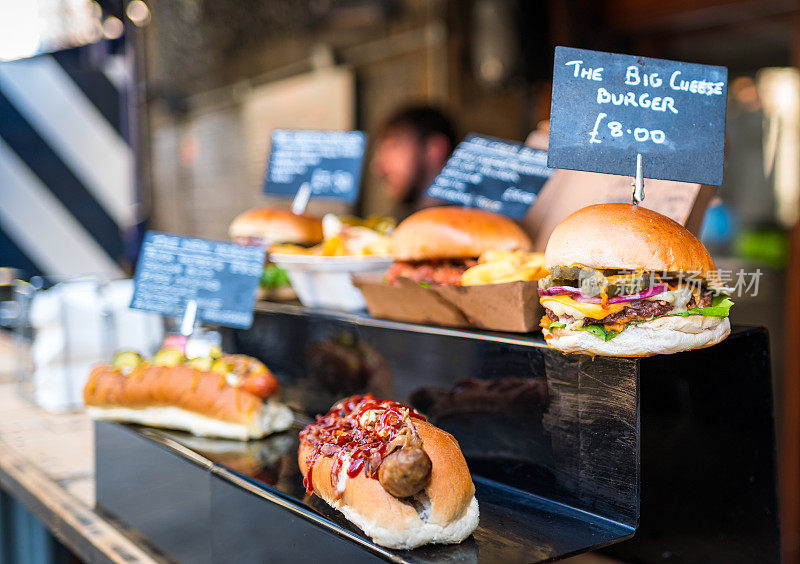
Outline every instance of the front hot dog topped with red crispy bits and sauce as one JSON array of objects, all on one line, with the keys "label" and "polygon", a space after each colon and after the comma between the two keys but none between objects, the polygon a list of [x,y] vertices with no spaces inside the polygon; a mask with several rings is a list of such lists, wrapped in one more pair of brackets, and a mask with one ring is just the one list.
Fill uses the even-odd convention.
[{"label": "front hot dog topped with red crispy bits and sauce", "polygon": [[303,483],[372,540],[457,543],[478,525],[458,442],[413,408],[371,394],[336,403],[300,432]]}]

